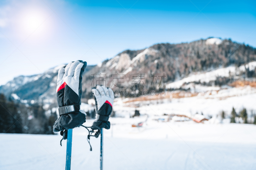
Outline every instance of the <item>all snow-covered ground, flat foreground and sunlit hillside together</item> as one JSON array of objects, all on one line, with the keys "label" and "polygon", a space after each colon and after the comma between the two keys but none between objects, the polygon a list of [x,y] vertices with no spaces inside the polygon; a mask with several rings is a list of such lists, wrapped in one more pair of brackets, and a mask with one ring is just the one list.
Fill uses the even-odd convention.
[{"label": "all snow-covered ground, flat foreground and sunlit hillside together", "polygon": [[[256,62],[252,62],[239,67],[238,71],[245,67],[252,70],[255,66]],[[116,117],[110,117],[111,128],[104,129],[104,170],[254,170],[256,125],[229,123],[229,117],[232,107],[237,114],[246,108],[248,120],[252,121],[250,115],[256,113],[256,88],[250,85],[218,87],[194,83],[210,82],[216,77],[228,77],[236,72],[237,69],[230,66],[191,74],[166,85],[167,88],[189,89],[187,92],[116,98],[113,105]],[[13,94],[13,97],[17,96]],[[82,103],[81,109],[92,112],[92,101]],[[57,110],[52,109],[53,112]],[[135,110],[140,111],[140,116],[132,118]],[[222,111],[226,113],[223,120],[220,118]],[[213,117],[204,123],[192,121],[193,117],[200,116]],[[93,121],[86,120],[84,125],[91,126]],[[139,123],[143,125],[132,127]],[[87,133],[83,127],[73,130],[71,169],[100,168],[100,138],[92,137],[90,152]],[[59,133],[0,134],[0,169],[65,169],[66,141],[61,147],[61,138]]]}]

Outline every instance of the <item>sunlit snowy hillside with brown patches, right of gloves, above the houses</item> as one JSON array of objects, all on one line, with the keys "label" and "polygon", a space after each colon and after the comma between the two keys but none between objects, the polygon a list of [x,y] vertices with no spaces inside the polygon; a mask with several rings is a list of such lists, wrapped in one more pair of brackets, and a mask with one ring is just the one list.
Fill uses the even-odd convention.
[{"label": "sunlit snowy hillside with brown patches, right of gloves, above the houses", "polygon": [[[234,88],[218,88],[195,86],[197,93],[174,91],[166,92],[158,98],[148,100],[150,97],[134,98],[117,98],[114,102],[114,110],[118,116],[131,116],[135,109],[142,114],[147,115],[194,115],[203,113],[206,116],[220,115],[222,111],[226,116],[230,116],[234,107],[236,113],[243,109],[247,109],[247,114],[255,114],[256,111],[256,88],[251,86],[234,87]],[[181,97],[177,98],[177,94]],[[193,94],[194,97],[185,97]],[[174,96],[174,97],[173,97]],[[154,96],[153,96],[154,97]],[[162,97],[162,98],[161,98]],[[155,100],[154,100],[155,99]]]}]

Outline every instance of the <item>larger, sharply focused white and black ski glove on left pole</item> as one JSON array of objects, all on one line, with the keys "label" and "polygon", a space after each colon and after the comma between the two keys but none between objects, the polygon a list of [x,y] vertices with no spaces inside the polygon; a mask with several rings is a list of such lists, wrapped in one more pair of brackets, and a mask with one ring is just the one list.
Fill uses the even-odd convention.
[{"label": "larger, sharply focused white and black ski glove on left pole", "polygon": [[81,60],[60,68],[57,79],[57,100],[60,117],[53,125],[53,131],[73,129],[81,126],[86,114],[80,110],[82,97],[82,75],[87,63]]}]

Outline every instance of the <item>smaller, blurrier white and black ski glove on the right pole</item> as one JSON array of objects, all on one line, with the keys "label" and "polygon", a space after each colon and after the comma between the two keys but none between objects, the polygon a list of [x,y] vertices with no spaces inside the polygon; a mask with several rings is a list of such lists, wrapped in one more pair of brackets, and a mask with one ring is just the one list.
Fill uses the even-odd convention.
[{"label": "smaller, blurrier white and black ski glove on the right pole", "polygon": [[[99,126],[100,128],[109,129],[110,122],[108,118],[112,112],[112,105],[114,103],[114,92],[111,88],[105,86],[97,85],[92,89],[95,99],[95,110],[97,115],[97,120],[93,122],[92,126]],[[92,130],[94,130],[92,128]],[[96,134],[99,133],[96,132]]]}]

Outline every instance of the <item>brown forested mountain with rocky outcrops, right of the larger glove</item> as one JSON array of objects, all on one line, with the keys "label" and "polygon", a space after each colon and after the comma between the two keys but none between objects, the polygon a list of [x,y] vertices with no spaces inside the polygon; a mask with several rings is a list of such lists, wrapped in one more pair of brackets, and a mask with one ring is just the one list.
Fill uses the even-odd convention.
[{"label": "brown forested mountain with rocky outcrops, right of the larger glove", "polygon": [[[156,44],[142,50],[126,50],[112,59],[98,64],[90,72],[84,74],[83,88],[86,90],[83,95],[85,98],[90,97],[91,74],[93,73],[101,73],[102,75],[98,77],[104,77],[106,85],[112,85],[111,87],[114,90],[119,91],[157,89],[157,87],[154,88],[151,85],[154,74],[155,76],[164,74],[166,84],[177,82],[183,78],[190,79],[191,76],[195,77],[193,75],[206,74],[206,77],[207,75],[211,76],[211,81],[202,83],[207,86],[218,86],[228,85],[239,78],[255,78],[255,63],[253,63],[255,60],[255,48],[219,38],[201,39],[180,44]],[[232,69],[230,70],[232,72],[230,76],[229,69]],[[219,75],[218,72],[222,71],[224,73]],[[121,85],[124,88],[115,86],[117,80],[113,77],[117,73],[119,74],[118,77],[122,78],[121,81],[124,81]],[[136,80],[134,75],[138,73],[143,75],[140,78],[137,76]],[[222,74],[225,74],[225,76],[223,77]],[[96,77],[95,79],[98,80],[99,78]],[[138,79],[141,80],[139,88],[138,86],[134,87],[134,82],[138,83]],[[182,81],[186,82],[187,79]],[[201,84],[199,79],[193,81]],[[179,89],[180,87],[175,88]],[[172,85],[167,86],[167,89],[173,89]]]}]

